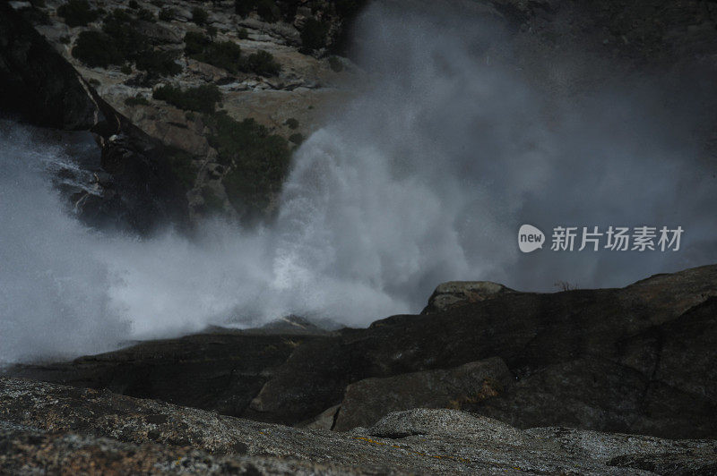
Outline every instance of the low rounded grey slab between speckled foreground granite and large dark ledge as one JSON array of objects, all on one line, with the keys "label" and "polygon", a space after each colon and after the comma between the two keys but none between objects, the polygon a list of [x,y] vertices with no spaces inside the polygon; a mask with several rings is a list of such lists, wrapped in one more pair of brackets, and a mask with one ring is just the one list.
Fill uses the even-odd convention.
[{"label": "low rounded grey slab between speckled foreground granite and large dark ledge", "polygon": [[390,412],[479,402],[498,395],[512,379],[505,362],[498,358],[469,362],[450,370],[366,378],[346,387],[333,429],[368,427]]}]

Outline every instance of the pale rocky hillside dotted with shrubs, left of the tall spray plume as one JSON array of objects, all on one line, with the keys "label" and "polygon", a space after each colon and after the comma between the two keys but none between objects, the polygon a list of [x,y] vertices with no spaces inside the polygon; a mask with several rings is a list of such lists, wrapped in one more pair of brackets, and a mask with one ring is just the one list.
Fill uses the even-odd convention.
[{"label": "pale rocky hillside dotted with shrubs, left of the tall spray plume", "polygon": [[[63,119],[48,123],[33,112],[25,118],[34,123],[98,133],[93,103],[99,98],[112,115],[142,132],[145,142],[162,149],[170,169],[164,181],[181,189],[175,201],[180,207],[186,201],[185,214],[193,221],[214,213],[245,221],[271,217],[291,150],[315,130],[327,108],[348,94],[353,67],[330,48],[339,48],[344,23],[358,12],[352,2],[11,5],[47,44],[34,38],[31,55],[8,62],[10,73],[22,77],[13,83],[21,91],[4,100],[22,97],[23,110]],[[23,21],[7,7],[3,14],[8,24]],[[22,51],[12,41],[5,49],[7,55]],[[43,56],[52,59],[48,63]],[[51,64],[67,70],[65,81],[52,78]],[[23,87],[28,75],[36,88]],[[41,104],[30,103],[37,89],[56,91],[61,104],[47,95]],[[79,92],[68,96],[72,89]],[[63,106],[72,111],[63,113]],[[111,132],[104,134],[107,139],[126,135]],[[117,174],[107,162],[102,169],[112,178]],[[99,186],[100,199],[108,189],[117,190],[107,181]]]}]

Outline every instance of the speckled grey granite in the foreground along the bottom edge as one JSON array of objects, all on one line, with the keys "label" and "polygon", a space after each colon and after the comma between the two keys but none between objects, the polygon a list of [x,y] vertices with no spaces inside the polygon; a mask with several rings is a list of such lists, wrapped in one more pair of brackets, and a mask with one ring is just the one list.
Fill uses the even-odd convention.
[{"label": "speckled grey granite in the foreground along the bottom edge", "polygon": [[[387,415],[351,433],[293,429],[109,392],[0,378],[4,472],[663,474],[703,471],[706,440],[515,429],[453,410]],[[620,467],[624,464],[626,467]],[[652,473],[650,473],[652,474]]]}]

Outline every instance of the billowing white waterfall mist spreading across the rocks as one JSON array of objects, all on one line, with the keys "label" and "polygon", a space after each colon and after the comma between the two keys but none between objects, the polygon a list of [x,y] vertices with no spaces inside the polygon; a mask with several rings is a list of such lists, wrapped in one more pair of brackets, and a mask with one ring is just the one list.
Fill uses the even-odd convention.
[{"label": "billowing white waterfall mist spreading across the rocks", "polygon": [[[0,361],[110,350],[295,313],[365,326],[417,312],[447,280],[527,291],[626,285],[717,260],[713,172],[689,124],[624,85],[548,98],[501,33],[464,14],[374,4],[358,26],[364,92],[298,150],[280,214],[201,236],[100,233],[61,205],[48,164],[0,132]],[[617,92],[616,92],[617,91]],[[660,114],[655,114],[660,110]],[[681,225],[678,252],[518,250],[520,225]]]}]

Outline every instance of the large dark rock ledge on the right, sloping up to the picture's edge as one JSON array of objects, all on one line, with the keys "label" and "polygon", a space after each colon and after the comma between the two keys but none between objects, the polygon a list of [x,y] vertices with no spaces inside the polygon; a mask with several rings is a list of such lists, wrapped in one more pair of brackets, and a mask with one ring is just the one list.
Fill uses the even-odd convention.
[{"label": "large dark rock ledge on the right, sloping up to the picture's edge", "polygon": [[[579,423],[672,438],[714,436],[715,396],[708,389],[715,382],[717,342],[706,327],[717,319],[710,307],[715,295],[717,267],[710,266],[653,276],[624,289],[505,293],[429,315],[394,316],[299,346],[252,408],[258,417],[301,421],[340,403],[343,389],[361,378],[498,356],[521,379],[514,394],[508,389],[497,400],[505,402],[501,414],[516,426]],[[703,314],[691,318],[695,312]],[[681,322],[693,320],[692,332],[699,337],[683,340],[690,327],[661,334],[662,348],[680,352],[658,353],[642,336],[656,327],[681,329]],[[630,339],[635,339],[631,351]],[[649,362],[658,360],[661,371],[654,371]],[[686,366],[691,370],[678,377],[677,370]],[[668,369],[672,377],[664,373]],[[540,379],[544,383],[521,393]],[[507,395],[514,395],[514,403]],[[518,404],[527,400],[531,403]]]}]

